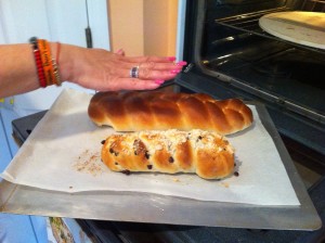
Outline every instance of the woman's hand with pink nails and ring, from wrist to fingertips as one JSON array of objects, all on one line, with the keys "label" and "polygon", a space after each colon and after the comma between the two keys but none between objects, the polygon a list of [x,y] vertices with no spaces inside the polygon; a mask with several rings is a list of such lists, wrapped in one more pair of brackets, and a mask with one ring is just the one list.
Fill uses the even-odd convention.
[{"label": "woman's hand with pink nails and ring, from wrist to fingertips", "polygon": [[[60,57],[63,80],[99,91],[156,89],[165,80],[179,74],[185,62],[174,57],[129,57],[102,49],[86,49],[64,44]],[[130,77],[132,67],[139,67],[138,78]]]}]

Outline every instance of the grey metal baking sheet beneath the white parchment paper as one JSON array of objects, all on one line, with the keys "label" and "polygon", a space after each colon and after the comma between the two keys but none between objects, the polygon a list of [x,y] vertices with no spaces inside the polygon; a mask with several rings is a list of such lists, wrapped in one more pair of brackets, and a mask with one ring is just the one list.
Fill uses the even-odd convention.
[{"label": "grey metal baking sheet beneath the white parchment paper", "polygon": [[63,193],[0,182],[0,212],[67,218],[246,229],[316,230],[322,221],[266,110],[259,116],[274,140],[300,206],[203,202],[130,192]]}]

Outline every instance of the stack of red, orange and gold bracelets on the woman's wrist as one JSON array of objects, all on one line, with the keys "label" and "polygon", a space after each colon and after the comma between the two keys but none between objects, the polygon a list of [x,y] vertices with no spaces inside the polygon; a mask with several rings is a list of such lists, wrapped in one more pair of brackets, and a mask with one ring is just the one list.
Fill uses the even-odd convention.
[{"label": "stack of red, orange and gold bracelets on the woman's wrist", "polygon": [[[34,55],[38,71],[38,78],[41,87],[51,85],[61,86],[58,64],[52,59],[50,44],[44,39],[30,38],[34,48]],[[56,60],[58,60],[60,43],[57,42]]]}]

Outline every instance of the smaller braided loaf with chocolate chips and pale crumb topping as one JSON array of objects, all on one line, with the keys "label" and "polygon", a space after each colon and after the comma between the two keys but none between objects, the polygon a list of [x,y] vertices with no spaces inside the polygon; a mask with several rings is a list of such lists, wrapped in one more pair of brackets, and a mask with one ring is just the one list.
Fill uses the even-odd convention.
[{"label": "smaller braided loaf with chocolate chips and pale crumb topping", "polygon": [[153,130],[109,136],[102,161],[114,171],[195,172],[220,179],[233,172],[234,151],[216,132]]}]

